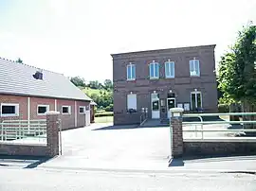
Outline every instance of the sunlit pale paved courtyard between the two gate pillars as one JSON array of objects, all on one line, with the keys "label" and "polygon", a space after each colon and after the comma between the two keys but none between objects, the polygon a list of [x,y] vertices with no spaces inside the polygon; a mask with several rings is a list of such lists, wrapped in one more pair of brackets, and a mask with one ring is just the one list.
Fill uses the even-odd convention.
[{"label": "sunlit pale paved courtyard between the two gate pillars", "polygon": [[150,163],[167,166],[171,152],[169,128],[93,124],[63,131],[62,140],[63,155],[41,166],[138,167]]}]

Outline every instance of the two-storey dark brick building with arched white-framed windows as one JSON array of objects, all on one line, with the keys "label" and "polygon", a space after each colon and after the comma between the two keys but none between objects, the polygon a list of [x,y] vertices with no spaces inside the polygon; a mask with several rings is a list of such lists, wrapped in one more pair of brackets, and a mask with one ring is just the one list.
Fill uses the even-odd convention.
[{"label": "two-storey dark brick building with arched white-framed windows", "polygon": [[215,45],[112,54],[114,124],[164,121],[170,109],[217,112]]}]

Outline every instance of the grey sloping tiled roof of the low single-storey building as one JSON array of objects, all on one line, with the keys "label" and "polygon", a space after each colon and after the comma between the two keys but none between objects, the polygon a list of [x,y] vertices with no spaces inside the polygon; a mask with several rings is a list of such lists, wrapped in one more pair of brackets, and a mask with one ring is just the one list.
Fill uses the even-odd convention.
[{"label": "grey sloping tiled roof of the low single-storey building", "polygon": [[0,94],[92,100],[62,74],[40,69],[43,80],[36,79],[39,68],[2,58],[0,68]]}]

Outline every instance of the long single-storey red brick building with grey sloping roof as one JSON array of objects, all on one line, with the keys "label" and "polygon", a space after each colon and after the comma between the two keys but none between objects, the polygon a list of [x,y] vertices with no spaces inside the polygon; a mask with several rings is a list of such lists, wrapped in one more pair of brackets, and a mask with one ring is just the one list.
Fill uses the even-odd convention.
[{"label": "long single-storey red brick building with grey sloping roof", "polygon": [[90,124],[91,98],[64,75],[0,58],[0,121],[61,113],[62,129]]}]

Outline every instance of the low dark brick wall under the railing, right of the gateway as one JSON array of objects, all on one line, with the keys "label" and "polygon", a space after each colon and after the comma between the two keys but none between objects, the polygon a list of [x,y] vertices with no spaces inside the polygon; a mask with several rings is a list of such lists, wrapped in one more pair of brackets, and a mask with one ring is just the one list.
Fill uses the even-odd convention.
[{"label": "low dark brick wall under the railing, right of the gateway", "polygon": [[185,141],[183,154],[193,156],[204,155],[230,155],[230,154],[256,154],[256,142],[230,140],[222,141]]}]

